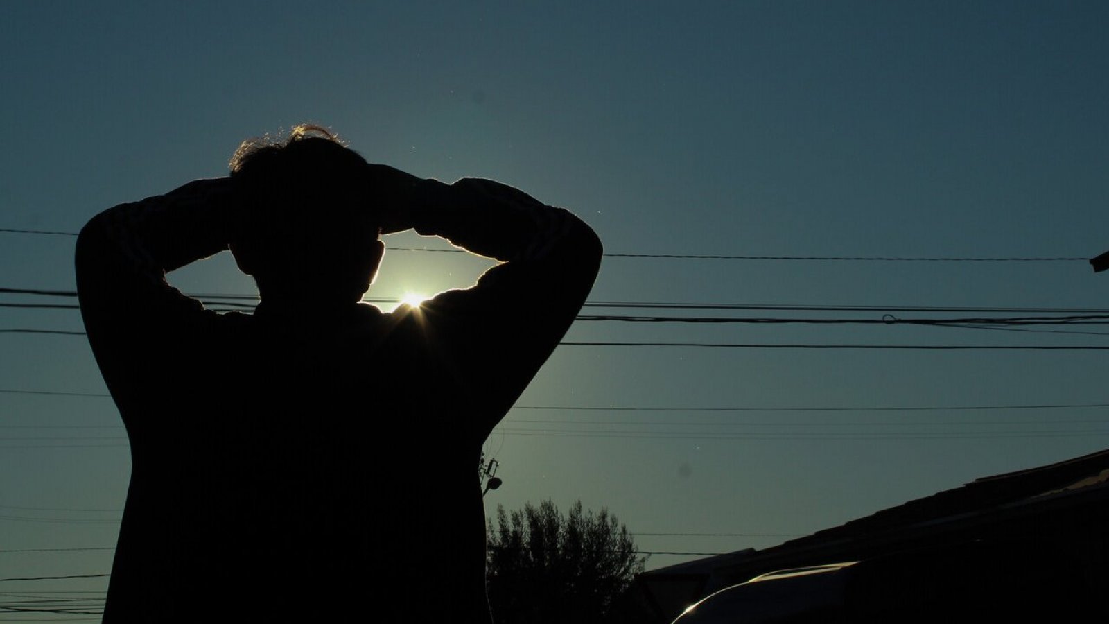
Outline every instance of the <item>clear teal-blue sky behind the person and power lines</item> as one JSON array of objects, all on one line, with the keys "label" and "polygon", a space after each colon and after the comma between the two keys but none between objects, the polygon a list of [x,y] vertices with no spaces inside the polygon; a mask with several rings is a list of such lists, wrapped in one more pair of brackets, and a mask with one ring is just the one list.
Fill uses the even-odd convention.
[{"label": "clear teal-blue sky behind the person and power lines", "polygon": [[[246,137],[313,121],[370,161],[494,178],[569,208],[612,254],[1109,250],[1109,4],[395,4],[0,3],[0,228],[75,232],[116,203],[225,174]],[[72,290],[72,236],[0,232],[0,286]],[[395,250],[368,296],[468,285],[484,265]],[[222,256],[171,281],[254,292]],[[610,256],[592,302],[821,309],[583,313],[875,321],[1045,315],[1029,310],[1106,310],[1107,300],[1109,275],[1080,260]],[[973,310],[905,310],[925,306]],[[997,308],[1017,310],[980,311]],[[567,340],[1109,348],[1098,328],[583,320]],[[81,323],[74,310],[0,308],[0,329]],[[108,572],[110,550],[11,552],[114,544],[129,457],[111,401],[10,392],[105,392],[88,344],[0,333],[0,578]],[[489,439],[505,484],[486,503],[581,499],[607,506],[644,551],[762,548],[1109,446],[1107,409],[1079,406],[1109,404],[1107,358],[564,345]],[[367,380],[365,417],[376,392]],[[698,411],[720,407],[731,411]],[[419,440],[366,447],[381,463],[367,487],[418,486],[404,475]],[[690,558],[655,554],[648,567]],[[104,586],[4,581],[0,592]]]}]

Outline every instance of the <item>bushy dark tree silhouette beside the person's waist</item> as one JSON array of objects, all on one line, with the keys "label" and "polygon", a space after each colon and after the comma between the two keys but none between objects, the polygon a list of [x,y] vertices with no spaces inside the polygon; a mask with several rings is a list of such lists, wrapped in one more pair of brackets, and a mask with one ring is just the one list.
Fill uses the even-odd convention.
[{"label": "bushy dark tree silhouette beside the person's waist", "polygon": [[489,602],[498,624],[591,624],[622,620],[645,556],[608,510],[563,515],[551,501],[488,522]]}]

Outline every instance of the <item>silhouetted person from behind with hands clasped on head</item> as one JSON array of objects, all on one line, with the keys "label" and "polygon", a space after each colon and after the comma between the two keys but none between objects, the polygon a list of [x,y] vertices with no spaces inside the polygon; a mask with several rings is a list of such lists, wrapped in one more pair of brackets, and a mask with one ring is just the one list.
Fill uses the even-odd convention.
[{"label": "silhouetted person from behind with hands clasped on head", "polygon": [[[379,233],[410,228],[501,263],[417,309],[360,303]],[[253,314],[166,284],[228,248]],[[92,219],[81,311],[132,457],[104,622],[488,622],[481,445],[600,258],[562,209],[314,128]]]}]

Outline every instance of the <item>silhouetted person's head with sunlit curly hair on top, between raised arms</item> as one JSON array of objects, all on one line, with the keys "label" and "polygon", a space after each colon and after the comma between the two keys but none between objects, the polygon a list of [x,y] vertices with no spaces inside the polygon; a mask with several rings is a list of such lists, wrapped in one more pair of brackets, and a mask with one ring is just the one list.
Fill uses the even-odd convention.
[{"label": "silhouetted person's head with sunlit curly hair on top, between raised arms", "polygon": [[263,301],[362,298],[384,252],[362,155],[323,128],[301,125],[279,142],[244,141],[231,177],[245,204],[231,250]]}]

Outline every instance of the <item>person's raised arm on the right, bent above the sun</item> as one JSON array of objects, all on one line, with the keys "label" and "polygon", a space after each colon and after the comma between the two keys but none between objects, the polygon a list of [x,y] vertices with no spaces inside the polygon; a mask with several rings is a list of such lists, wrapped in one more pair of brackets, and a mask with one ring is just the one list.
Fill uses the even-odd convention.
[{"label": "person's raised arm on the right, bent above the sun", "polygon": [[[384,231],[410,227],[500,261],[474,286],[440,293],[413,312],[455,358],[466,400],[492,399],[479,412],[491,429],[581,309],[600,266],[600,239],[569,211],[490,180],[408,179],[395,188],[406,209]],[[490,392],[494,384],[502,391]]]}]

